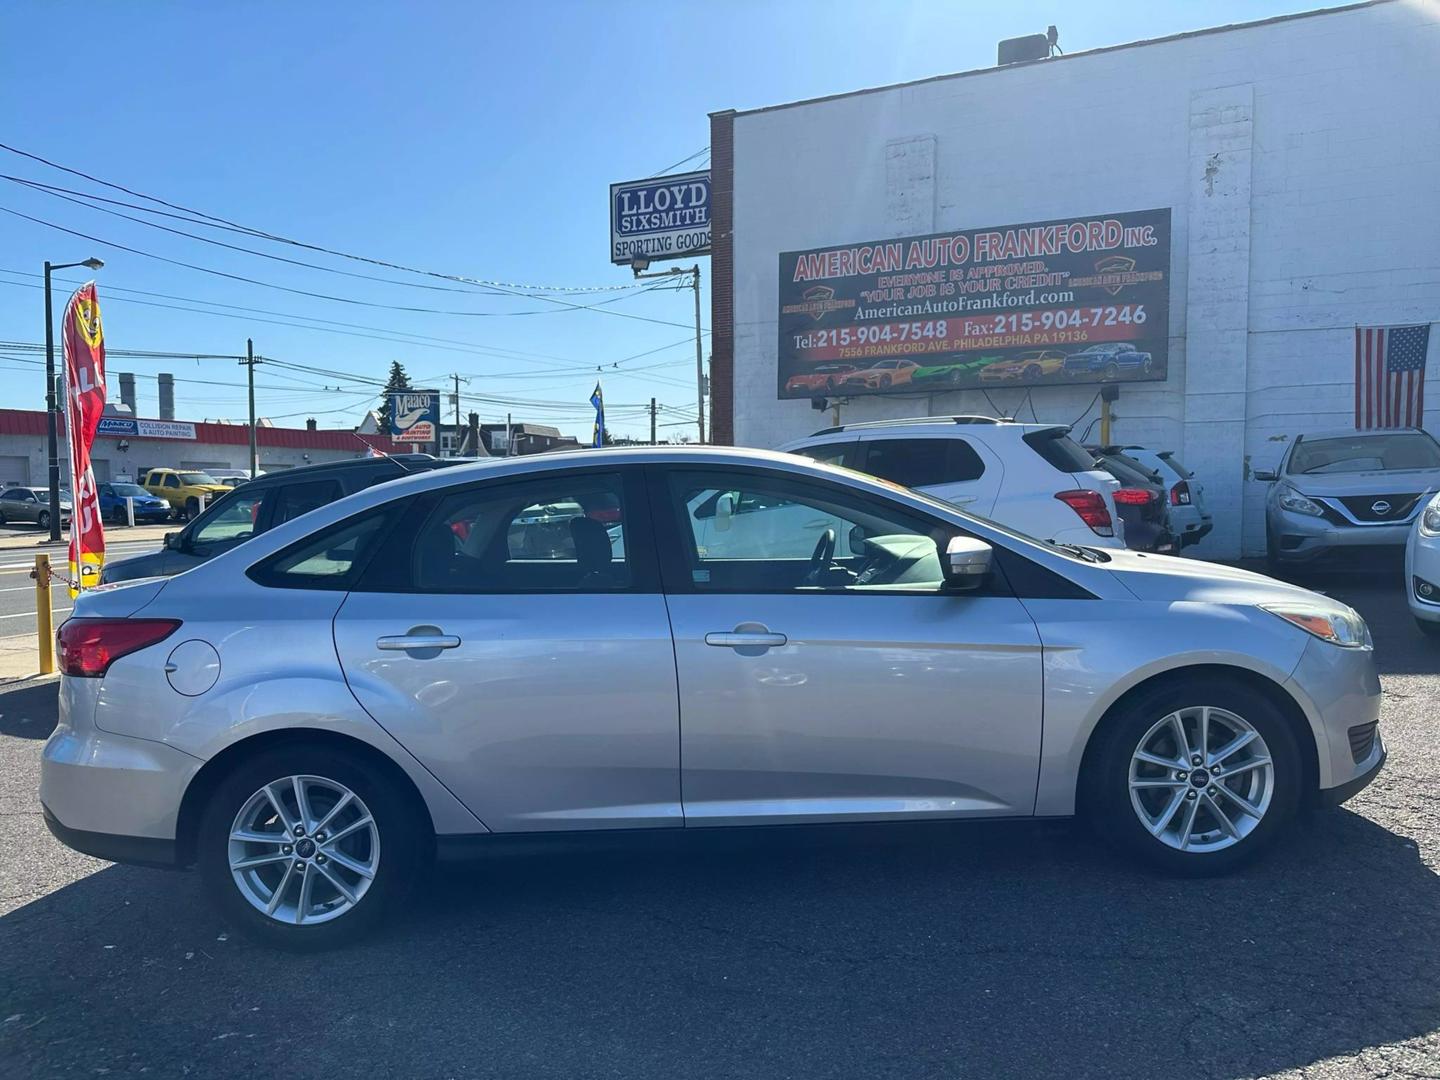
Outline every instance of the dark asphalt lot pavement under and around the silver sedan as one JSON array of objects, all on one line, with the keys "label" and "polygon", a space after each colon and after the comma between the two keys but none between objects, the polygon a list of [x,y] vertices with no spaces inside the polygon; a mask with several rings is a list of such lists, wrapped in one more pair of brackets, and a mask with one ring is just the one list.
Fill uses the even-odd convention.
[{"label": "dark asphalt lot pavement under and around the silver sedan", "polygon": [[662,835],[438,873],[387,933],[291,956],[196,876],[55,842],[55,688],[0,693],[0,1076],[1440,1074],[1440,647],[1371,621],[1390,763],[1233,877],[1067,822]]}]

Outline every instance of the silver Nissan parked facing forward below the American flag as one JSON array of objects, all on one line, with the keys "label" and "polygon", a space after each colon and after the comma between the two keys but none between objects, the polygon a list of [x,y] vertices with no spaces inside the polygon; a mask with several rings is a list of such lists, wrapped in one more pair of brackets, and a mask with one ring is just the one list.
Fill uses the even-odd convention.
[{"label": "silver Nissan parked facing forward below the American flag", "polygon": [[1266,557],[1273,570],[1361,549],[1398,554],[1430,494],[1440,444],[1418,428],[1296,435],[1269,481]]}]

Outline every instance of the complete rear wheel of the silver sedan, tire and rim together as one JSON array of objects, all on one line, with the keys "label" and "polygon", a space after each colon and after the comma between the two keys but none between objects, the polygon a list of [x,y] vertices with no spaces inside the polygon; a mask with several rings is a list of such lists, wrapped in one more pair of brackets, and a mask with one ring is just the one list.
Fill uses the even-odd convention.
[{"label": "complete rear wheel of the silver sedan, tire and rim together", "polygon": [[423,835],[409,799],[370,760],[291,743],[217,785],[197,855],[230,923],[266,945],[314,950],[356,940],[400,909]]}]

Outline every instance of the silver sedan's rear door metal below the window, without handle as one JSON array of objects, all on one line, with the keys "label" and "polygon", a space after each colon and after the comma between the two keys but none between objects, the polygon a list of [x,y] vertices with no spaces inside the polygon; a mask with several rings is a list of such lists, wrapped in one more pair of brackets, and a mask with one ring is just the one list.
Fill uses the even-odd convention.
[{"label": "silver sedan's rear door metal below the window, without handle", "polygon": [[[416,626],[459,645],[377,645]],[[336,648],[366,711],[487,828],[684,824],[662,596],[357,592]]]}]

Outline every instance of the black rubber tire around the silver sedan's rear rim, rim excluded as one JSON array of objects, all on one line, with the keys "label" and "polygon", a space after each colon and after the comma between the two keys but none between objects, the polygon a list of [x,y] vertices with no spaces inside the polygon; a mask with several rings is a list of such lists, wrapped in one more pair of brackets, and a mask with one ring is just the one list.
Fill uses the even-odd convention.
[{"label": "black rubber tire around the silver sedan's rear rim, rim excluded", "polygon": [[[245,804],[266,783],[297,775],[348,788],[370,811],[380,844],[369,890],[344,914],[312,924],[281,923],[252,907],[229,864],[230,825]],[[423,868],[428,828],[410,793],[369,757],[331,744],[292,742],[256,752],[219,782],[200,819],[196,855],[210,899],[232,926],[264,945],[314,952],[348,945],[399,910]]]}]

